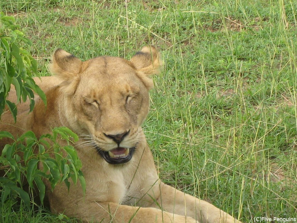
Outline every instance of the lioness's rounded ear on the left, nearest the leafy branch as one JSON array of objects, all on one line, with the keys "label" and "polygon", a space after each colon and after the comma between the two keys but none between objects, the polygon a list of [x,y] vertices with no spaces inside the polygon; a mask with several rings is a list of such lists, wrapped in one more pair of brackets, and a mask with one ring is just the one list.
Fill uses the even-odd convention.
[{"label": "lioness's rounded ear on the left, nearest the leafy branch", "polygon": [[51,72],[62,80],[61,86],[64,92],[74,93],[80,79],[79,74],[83,70],[83,62],[73,54],[58,48],[52,56],[49,67]]}]

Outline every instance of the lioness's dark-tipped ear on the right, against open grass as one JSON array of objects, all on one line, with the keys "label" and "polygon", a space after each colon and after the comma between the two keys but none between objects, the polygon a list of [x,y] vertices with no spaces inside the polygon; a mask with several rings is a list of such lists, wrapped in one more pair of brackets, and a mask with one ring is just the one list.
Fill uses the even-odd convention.
[{"label": "lioness's dark-tipped ear on the right, against open grass", "polygon": [[137,75],[143,80],[148,89],[152,88],[151,75],[159,74],[163,61],[160,52],[154,46],[142,47],[130,60],[137,70]]}]

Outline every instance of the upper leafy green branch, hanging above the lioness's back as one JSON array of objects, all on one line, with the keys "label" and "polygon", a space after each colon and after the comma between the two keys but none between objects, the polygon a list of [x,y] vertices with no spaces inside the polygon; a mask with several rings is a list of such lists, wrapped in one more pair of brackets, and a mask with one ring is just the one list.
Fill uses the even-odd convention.
[{"label": "upper leafy green branch, hanging above the lioness's back", "polygon": [[32,42],[18,30],[12,16],[0,12],[0,117],[5,105],[11,111],[14,121],[17,119],[16,104],[6,100],[11,84],[14,85],[17,103],[30,100],[30,112],[34,108],[34,93],[37,93],[46,105],[46,96],[36,85],[32,76],[39,77],[37,62],[29,53]]}]

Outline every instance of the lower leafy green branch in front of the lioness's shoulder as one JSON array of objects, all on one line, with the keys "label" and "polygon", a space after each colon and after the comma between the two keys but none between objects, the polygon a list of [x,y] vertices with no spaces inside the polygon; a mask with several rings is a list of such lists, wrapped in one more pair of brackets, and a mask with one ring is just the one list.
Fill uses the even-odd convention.
[{"label": "lower leafy green branch in front of the lioness's shoulder", "polygon": [[[34,188],[33,182],[39,191],[40,201],[43,202],[45,195],[43,178],[51,183],[52,189],[62,181],[69,189],[70,178],[74,183],[79,180],[85,191],[85,180],[80,171],[81,161],[77,157],[76,150],[70,146],[72,143],[70,139],[76,142],[78,137],[68,128],[56,127],[53,129],[53,134],[42,135],[39,139],[32,131],[24,133],[17,139],[14,139],[9,132],[0,131],[0,138],[3,137],[10,138],[14,142],[6,145],[0,156],[2,169],[5,167],[5,177],[0,177],[0,187],[3,188],[2,202],[5,202],[8,195],[17,194],[29,205],[29,195],[22,187],[28,183]],[[61,146],[57,141],[66,145]],[[26,180],[21,176],[25,176]]]}]

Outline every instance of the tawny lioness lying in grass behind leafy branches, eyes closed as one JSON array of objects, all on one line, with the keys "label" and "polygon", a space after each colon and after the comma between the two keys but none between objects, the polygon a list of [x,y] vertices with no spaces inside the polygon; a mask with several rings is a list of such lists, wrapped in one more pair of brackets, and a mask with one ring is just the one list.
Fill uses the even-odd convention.
[{"label": "tawny lioness lying in grass behind leafy branches, eyes closed", "polygon": [[[36,136],[66,126],[81,136],[73,146],[86,181],[47,190],[53,213],[85,222],[218,223],[237,220],[206,201],[184,194],[159,178],[141,123],[149,111],[152,74],[161,66],[155,47],[143,47],[130,61],[102,56],[81,61],[62,49],[50,65],[53,77],[35,79],[47,96],[33,112],[21,105],[15,124],[4,114],[1,130]],[[91,142],[91,143],[90,143]],[[0,148],[7,143],[0,141]],[[47,187],[51,188],[46,182]],[[240,221],[237,221],[240,222]]]}]

